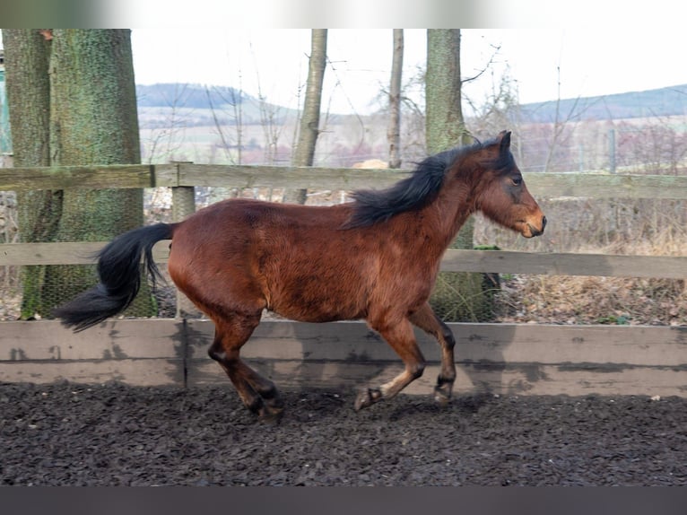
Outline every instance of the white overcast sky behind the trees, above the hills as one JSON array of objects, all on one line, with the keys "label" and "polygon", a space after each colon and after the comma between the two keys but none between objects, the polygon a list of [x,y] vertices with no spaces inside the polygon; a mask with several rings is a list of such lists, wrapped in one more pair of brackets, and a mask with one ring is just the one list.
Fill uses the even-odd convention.
[{"label": "white overcast sky behind the trees, above the hills", "polygon": [[[466,84],[465,93],[477,102],[486,100],[503,74],[520,103],[683,84],[687,68],[675,57],[683,39],[683,31],[671,27],[464,29],[464,78],[491,63],[478,80]],[[298,107],[308,73],[310,31],[152,27],[134,29],[132,45],[136,83],[233,86]],[[323,105],[337,113],[378,109],[391,56],[391,29],[330,29]],[[417,76],[425,60],[426,31],[404,30],[404,80]]]}]

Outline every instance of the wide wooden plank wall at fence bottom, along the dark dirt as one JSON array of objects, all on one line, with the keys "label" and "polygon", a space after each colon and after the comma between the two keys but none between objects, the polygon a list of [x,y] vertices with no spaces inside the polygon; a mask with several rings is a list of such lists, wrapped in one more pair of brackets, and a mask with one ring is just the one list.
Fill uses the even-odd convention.
[{"label": "wide wooden plank wall at fence bottom, along the dark dirt", "polygon": [[[449,324],[462,394],[687,397],[687,327]],[[206,354],[203,319],[117,319],[74,334],[57,321],[0,324],[0,381],[185,386],[230,382]],[[430,395],[439,345],[417,333],[428,367],[405,393]],[[281,388],[357,388],[401,371],[362,322],[265,321],[243,357]]]}]

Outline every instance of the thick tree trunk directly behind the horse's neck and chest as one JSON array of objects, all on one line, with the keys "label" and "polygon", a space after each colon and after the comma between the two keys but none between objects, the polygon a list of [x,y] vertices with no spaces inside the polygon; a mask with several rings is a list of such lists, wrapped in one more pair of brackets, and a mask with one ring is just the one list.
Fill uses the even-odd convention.
[{"label": "thick tree trunk directly behind the horse's neck and chest", "polygon": [[[427,31],[426,138],[427,151],[439,153],[466,144],[469,135],[461,108],[460,30]],[[473,249],[474,220],[458,232],[452,249]],[[440,318],[451,321],[491,319],[491,294],[483,291],[483,275],[439,274],[430,304]]]}]

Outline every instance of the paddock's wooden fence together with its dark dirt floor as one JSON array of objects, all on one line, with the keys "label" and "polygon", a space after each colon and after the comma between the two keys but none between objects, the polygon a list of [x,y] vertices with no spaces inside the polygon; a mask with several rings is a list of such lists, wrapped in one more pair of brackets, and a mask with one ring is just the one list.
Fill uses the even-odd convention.
[{"label": "paddock's wooden fence together with its dark dirt floor", "polygon": [[[524,175],[537,200],[687,199],[684,177]],[[399,177],[189,163],[0,169],[0,191],[170,187],[180,219],[194,186],[336,191]],[[90,263],[104,244],[0,244],[0,266]],[[165,242],[154,256],[165,263]],[[687,258],[449,249],[442,270],[680,280]],[[354,386],[402,367],[387,344],[359,322],[264,319],[242,355],[283,389],[286,414],[265,425],[207,357],[212,323],[183,299],[176,309],[77,334],[55,320],[0,322],[0,484],[687,485],[683,323],[449,323],[448,406],[430,396],[439,345],[417,333],[428,367],[409,395],[355,412]]]}]

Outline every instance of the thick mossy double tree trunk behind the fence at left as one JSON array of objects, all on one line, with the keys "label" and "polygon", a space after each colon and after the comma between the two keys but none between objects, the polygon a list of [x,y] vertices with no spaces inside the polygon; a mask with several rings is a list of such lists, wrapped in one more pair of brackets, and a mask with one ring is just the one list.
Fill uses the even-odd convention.
[{"label": "thick mossy double tree trunk behind the fence at left", "polygon": [[[47,155],[42,154],[43,165],[141,162],[130,31],[56,29],[50,32],[51,39],[40,42],[45,48],[42,53],[21,50],[26,42],[35,43],[36,34],[37,31],[21,30],[11,35],[19,40],[17,45],[11,45],[19,49],[16,60],[7,63],[8,92],[13,77],[14,94],[9,97],[9,105],[17,165],[28,165],[32,159],[27,141],[30,134],[22,127],[26,123],[38,125],[37,120],[41,141],[48,149]],[[10,48],[6,51],[10,53]],[[36,74],[35,82],[41,85],[36,93],[37,104],[21,91],[25,74]],[[41,226],[36,214],[40,213],[40,205],[46,205],[45,198],[27,199],[22,208],[20,231],[27,239],[111,240],[143,224],[141,189],[69,189],[50,193],[49,231],[36,231]],[[22,318],[48,315],[57,304],[95,281],[93,266],[46,267],[35,280],[39,295],[34,297],[33,288],[24,293]],[[146,292],[143,288],[136,301],[134,309],[139,314],[152,311],[152,300]]]}]

